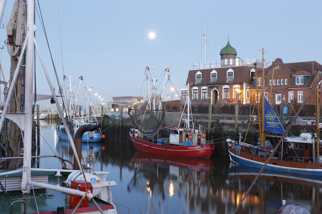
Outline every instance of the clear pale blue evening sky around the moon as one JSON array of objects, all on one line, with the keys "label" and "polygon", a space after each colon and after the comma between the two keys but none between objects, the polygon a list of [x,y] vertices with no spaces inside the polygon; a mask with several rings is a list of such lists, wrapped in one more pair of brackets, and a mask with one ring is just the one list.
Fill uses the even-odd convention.
[{"label": "clear pale blue evening sky around the moon", "polygon": [[[9,20],[13,2],[7,0],[2,23]],[[92,103],[98,101],[94,93],[104,102],[112,101],[113,96],[146,96],[146,85],[140,93],[146,67],[155,69],[156,77],[169,68],[170,79],[180,92],[192,63],[204,63],[204,42],[198,39],[203,37],[204,21],[211,40],[207,62],[220,61],[219,52],[229,33],[230,43],[240,58],[261,59],[258,50],[264,48],[268,62],[281,58],[284,63],[316,60],[322,64],[322,1],[39,0],[39,3],[60,82],[63,74],[71,75],[73,83],[83,76],[82,86],[93,87]],[[54,83],[37,13],[36,27],[36,40]],[[148,37],[151,31],[156,34],[153,40]],[[1,39],[6,39],[4,28],[0,29]],[[1,64],[8,81],[10,58],[6,48],[1,50]],[[50,94],[38,57],[36,83],[39,94]],[[57,89],[57,81],[55,86]],[[41,108],[49,105],[56,109],[48,100],[38,104]]]}]

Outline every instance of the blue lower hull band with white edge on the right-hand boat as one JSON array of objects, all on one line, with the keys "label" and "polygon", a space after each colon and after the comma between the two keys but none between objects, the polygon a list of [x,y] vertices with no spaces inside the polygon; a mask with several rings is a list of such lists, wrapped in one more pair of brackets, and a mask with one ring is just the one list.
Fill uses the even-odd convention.
[{"label": "blue lower hull band with white edge on the right-hand boat", "polygon": [[[232,152],[229,152],[229,157],[233,163],[236,163],[236,164],[242,165],[242,166],[249,166],[249,167],[261,169],[264,165],[264,163],[253,161],[253,160],[248,160],[248,159],[243,158],[241,156],[235,155]],[[321,170],[320,169],[303,169],[303,168],[284,167],[284,166],[276,166],[276,165],[268,164],[265,166],[265,170],[274,170],[274,171],[280,171],[280,172],[322,176],[322,169]]]}]

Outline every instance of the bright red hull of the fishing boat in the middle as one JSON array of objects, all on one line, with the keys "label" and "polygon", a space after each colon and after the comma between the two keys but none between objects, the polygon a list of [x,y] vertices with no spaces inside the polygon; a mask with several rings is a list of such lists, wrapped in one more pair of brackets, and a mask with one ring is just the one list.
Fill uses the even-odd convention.
[{"label": "bright red hull of the fishing boat in the middle", "polygon": [[165,146],[150,143],[140,138],[135,138],[132,135],[130,135],[130,138],[135,149],[141,152],[194,158],[210,158],[215,152],[213,144],[204,144],[203,146]]}]

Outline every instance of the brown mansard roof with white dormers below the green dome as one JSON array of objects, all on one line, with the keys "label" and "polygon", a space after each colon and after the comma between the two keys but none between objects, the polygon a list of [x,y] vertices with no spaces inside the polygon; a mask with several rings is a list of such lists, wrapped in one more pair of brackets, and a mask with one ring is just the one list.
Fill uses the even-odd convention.
[{"label": "brown mansard roof with white dormers below the green dome", "polygon": [[[189,70],[186,85],[193,83],[193,85],[208,85],[213,84],[211,82],[210,73],[215,70],[217,72],[217,83],[216,84],[227,84],[227,71],[232,69],[234,71],[234,79],[232,83],[251,83],[250,70],[253,69],[252,66],[234,66],[234,67],[218,67],[218,68],[206,68],[206,69],[196,69]],[[197,72],[201,73],[201,83],[195,84]]]}]

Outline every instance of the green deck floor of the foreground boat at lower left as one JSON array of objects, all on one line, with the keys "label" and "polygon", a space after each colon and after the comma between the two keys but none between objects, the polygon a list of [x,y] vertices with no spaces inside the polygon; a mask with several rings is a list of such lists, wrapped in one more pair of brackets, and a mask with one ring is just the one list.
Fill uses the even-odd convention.
[{"label": "green deck floor of the foreground boat at lower left", "polygon": [[[62,181],[65,180],[66,177],[60,178],[60,185],[63,186]],[[48,178],[48,183],[55,185],[57,183],[57,179],[55,176],[50,175]],[[4,182],[3,185],[5,186]],[[65,200],[65,193],[57,192],[53,190],[43,190],[43,189],[35,189],[34,194],[36,196],[37,206],[35,203],[35,199],[33,196],[33,191],[29,194],[23,194],[21,191],[11,191],[8,192],[9,199],[2,198],[0,200],[1,213],[9,213],[10,206],[14,201],[23,200],[26,202],[26,213],[37,213],[37,206],[39,212],[46,211],[56,211],[57,207],[64,207],[64,209],[70,209],[69,201]],[[45,195],[43,195],[45,194]],[[53,196],[52,198],[50,196]],[[0,192],[0,197],[2,196],[2,192]],[[47,198],[48,197],[48,198]],[[97,200],[95,200],[97,201]],[[109,203],[103,203],[101,201],[97,201],[99,205],[108,205]],[[92,201],[89,203],[90,207],[95,206]],[[24,204],[23,203],[15,203],[13,206],[13,213],[24,213]]]}]

